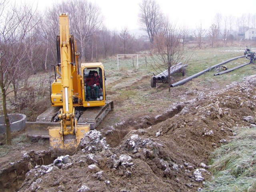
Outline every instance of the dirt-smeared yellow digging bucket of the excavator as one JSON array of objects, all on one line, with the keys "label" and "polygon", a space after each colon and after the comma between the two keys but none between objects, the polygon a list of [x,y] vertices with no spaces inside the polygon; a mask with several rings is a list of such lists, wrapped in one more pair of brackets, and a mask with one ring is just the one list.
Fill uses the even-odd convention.
[{"label": "dirt-smeared yellow digging bucket of the excavator", "polygon": [[56,158],[61,155],[72,155],[76,151],[81,138],[84,137],[84,134],[90,131],[90,125],[77,125],[76,134],[61,134],[61,127],[49,127],[50,135],[50,146],[52,158]]}]

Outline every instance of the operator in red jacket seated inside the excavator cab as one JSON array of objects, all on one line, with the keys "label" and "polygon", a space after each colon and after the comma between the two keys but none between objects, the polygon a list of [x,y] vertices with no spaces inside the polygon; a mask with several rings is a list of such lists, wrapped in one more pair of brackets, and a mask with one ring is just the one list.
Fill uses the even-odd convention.
[{"label": "operator in red jacket seated inside the excavator cab", "polygon": [[98,72],[94,71],[92,77],[88,77],[85,80],[86,83],[86,92],[88,94],[87,100],[91,99],[91,90],[94,89],[95,97],[98,98],[99,88],[100,88],[100,76]]}]

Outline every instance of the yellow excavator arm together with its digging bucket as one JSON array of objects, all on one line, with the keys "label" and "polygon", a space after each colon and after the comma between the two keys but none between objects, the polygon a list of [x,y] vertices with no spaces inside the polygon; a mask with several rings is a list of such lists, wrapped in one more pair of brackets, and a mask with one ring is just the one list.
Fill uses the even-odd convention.
[{"label": "yellow excavator arm together with its digging bucket", "polygon": [[68,15],[61,14],[59,16],[60,22],[60,37],[59,50],[60,63],[57,64],[56,69],[61,68],[61,92],[63,106],[60,108],[58,118],[60,118],[60,126],[49,127],[50,146],[52,149],[52,156],[58,154],[70,154],[74,152],[84,136],[85,132],[90,131],[89,124],[77,124],[75,118],[75,108],[73,106],[73,80],[76,79],[77,66],[75,61],[75,44],[72,42],[69,34]]}]

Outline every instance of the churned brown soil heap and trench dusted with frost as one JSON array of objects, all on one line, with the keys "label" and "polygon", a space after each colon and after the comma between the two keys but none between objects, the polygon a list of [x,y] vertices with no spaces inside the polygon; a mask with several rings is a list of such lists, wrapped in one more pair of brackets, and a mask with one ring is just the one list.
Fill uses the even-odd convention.
[{"label": "churned brown soil heap and trench dusted with frost", "polygon": [[250,76],[224,87],[177,90],[172,94],[183,101],[166,102],[154,114],[134,111],[115,124],[120,112],[112,112],[72,156],[52,160],[48,140],[35,140],[0,158],[0,191],[200,191],[211,178],[210,153],[236,135],[234,127],[255,126],[255,85]]}]

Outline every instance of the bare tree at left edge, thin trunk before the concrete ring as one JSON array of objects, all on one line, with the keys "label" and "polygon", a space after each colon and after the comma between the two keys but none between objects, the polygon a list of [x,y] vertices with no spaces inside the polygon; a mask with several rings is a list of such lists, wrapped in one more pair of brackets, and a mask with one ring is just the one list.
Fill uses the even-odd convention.
[{"label": "bare tree at left edge, thin trunk before the concrete ring", "polygon": [[29,65],[24,50],[24,39],[32,28],[30,24],[35,12],[26,4],[18,7],[17,4],[10,4],[3,0],[0,4],[3,5],[0,6],[0,87],[6,124],[6,140],[7,144],[11,144],[6,99],[10,92],[19,89],[16,79],[20,79],[26,73],[26,66]]}]

